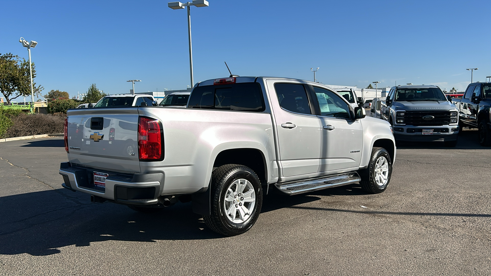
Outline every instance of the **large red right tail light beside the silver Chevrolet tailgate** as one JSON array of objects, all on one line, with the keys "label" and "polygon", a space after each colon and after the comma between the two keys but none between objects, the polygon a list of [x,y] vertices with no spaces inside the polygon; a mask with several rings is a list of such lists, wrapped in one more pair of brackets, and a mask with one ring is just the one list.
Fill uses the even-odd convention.
[{"label": "large red right tail light beside the silver Chevrolet tailgate", "polygon": [[159,120],[138,118],[138,156],[140,161],[164,160],[164,129]]}]

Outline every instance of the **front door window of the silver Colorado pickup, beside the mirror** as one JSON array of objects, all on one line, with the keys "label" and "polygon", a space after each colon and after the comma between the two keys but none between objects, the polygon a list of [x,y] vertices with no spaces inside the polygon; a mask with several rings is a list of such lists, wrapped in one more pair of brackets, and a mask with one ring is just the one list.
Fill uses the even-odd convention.
[{"label": "front door window of the silver Colorado pickup, beside the mirror", "polygon": [[314,91],[321,110],[321,116],[347,119],[351,118],[348,104],[338,95],[327,89],[315,86]]}]

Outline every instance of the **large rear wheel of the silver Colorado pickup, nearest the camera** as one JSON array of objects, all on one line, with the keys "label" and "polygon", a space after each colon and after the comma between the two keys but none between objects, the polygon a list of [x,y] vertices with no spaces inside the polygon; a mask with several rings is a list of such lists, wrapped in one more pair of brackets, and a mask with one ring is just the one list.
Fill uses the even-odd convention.
[{"label": "large rear wheel of the silver Colorado pickup, nearest the camera", "polygon": [[263,191],[252,169],[235,164],[220,166],[212,173],[210,189],[211,216],[203,216],[210,229],[235,236],[245,233],[257,221]]}]

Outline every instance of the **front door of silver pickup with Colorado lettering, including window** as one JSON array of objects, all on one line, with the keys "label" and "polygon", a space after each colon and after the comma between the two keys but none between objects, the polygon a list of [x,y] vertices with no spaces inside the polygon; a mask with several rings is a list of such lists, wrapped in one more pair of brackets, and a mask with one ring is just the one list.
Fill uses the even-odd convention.
[{"label": "front door of silver pickup with Colorado lettering, including window", "polygon": [[360,120],[336,93],[313,86],[319,105],[322,147],[319,172],[358,167],[361,161],[363,128]]}]

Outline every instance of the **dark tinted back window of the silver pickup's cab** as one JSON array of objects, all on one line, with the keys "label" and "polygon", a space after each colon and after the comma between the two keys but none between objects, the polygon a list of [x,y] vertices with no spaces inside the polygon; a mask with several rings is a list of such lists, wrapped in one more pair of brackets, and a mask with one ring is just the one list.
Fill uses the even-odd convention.
[{"label": "dark tinted back window of the silver pickup's cab", "polygon": [[259,83],[234,83],[194,88],[188,108],[260,112],[265,104]]}]

